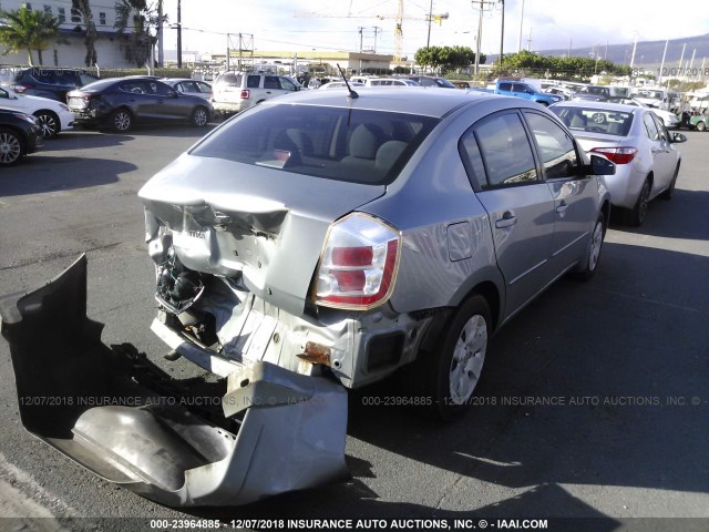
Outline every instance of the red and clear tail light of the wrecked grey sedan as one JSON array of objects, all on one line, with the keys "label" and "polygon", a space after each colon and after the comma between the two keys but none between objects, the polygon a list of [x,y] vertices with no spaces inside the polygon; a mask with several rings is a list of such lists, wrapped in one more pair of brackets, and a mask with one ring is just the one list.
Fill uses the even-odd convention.
[{"label": "red and clear tail light of the wrecked grey sedan", "polygon": [[315,303],[366,310],[387,301],[394,286],[401,234],[368,214],[335,222],[316,276]]}]

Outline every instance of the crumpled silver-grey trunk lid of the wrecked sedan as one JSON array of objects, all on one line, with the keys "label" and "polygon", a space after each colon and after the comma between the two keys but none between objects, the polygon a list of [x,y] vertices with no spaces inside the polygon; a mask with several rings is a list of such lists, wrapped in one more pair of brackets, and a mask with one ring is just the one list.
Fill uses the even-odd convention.
[{"label": "crumpled silver-grey trunk lid of the wrecked sedan", "polygon": [[188,154],[138,192],[148,242],[168,226],[187,268],[237,278],[296,316],[330,224],[382,194],[384,186]]}]

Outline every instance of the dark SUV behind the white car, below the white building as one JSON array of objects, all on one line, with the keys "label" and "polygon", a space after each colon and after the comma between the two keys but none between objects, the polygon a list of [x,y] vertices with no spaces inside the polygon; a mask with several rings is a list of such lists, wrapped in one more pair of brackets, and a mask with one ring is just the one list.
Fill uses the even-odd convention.
[{"label": "dark SUV behind the white car, below the white building", "polygon": [[18,70],[12,89],[19,94],[49,98],[65,103],[69,91],[97,80],[99,78],[81,69],[30,66]]}]

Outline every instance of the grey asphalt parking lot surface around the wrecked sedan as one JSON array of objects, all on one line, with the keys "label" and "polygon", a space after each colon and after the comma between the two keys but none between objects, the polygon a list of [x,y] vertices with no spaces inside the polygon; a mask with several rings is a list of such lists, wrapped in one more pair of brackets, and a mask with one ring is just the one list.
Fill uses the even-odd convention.
[{"label": "grey asphalt parking lot surface around the wrecked sedan", "polygon": [[[648,530],[627,518],[709,519],[709,134],[684,132],[672,201],[653,202],[640,228],[612,225],[593,282],[563,279],[502,329],[465,418],[436,424],[395,406],[395,379],[350,393],[351,481],[244,508],[157,505],[24,431],[4,341],[0,480],[74,518],[606,518],[603,531]],[[89,316],[106,324],[104,342],[132,342],[187,375],[150,331],[154,273],[136,192],[201,133],[64,132],[2,168],[0,294],[40,286],[88,253]],[[122,523],[138,530],[112,526]]]}]

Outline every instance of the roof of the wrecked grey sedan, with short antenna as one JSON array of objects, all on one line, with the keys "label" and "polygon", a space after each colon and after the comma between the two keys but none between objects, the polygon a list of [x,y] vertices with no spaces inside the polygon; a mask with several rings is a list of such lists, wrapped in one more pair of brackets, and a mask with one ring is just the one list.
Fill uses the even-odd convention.
[{"label": "roof of the wrecked grey sedan, with short antenna", "polygon": [[484,101],[490,101],[491,98],[505,99],[508,101],[514,100],[514,104],[517,106],[530,106],[526,104],[526,101],[522,99],[512,99],[482,92],[479,94],[472,94],[464,91],[452,92],[438,86],[358,86],[357,93],[359,94],[359,98],[352,99],[343,91],[302,91],[267,100],[259,105],[325,105],[419,114],[436,119],[445,116],[448,113],[462,105],[477,105]]}]

